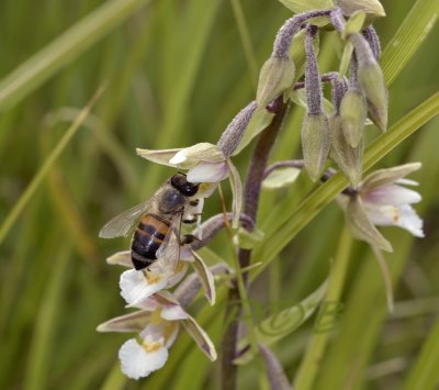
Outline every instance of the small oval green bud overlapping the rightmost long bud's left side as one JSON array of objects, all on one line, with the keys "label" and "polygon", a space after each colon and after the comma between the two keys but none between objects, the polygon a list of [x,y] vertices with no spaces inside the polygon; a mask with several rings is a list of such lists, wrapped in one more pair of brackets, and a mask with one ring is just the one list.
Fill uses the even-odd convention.
[{"label": "small oval green bud overlapping the rightmost long bud's left side", "polygon": [[340,104],[342,134],[351,147],[357,147],[363,137],[367,114],[365,99],[358,89],[349,89]]}]

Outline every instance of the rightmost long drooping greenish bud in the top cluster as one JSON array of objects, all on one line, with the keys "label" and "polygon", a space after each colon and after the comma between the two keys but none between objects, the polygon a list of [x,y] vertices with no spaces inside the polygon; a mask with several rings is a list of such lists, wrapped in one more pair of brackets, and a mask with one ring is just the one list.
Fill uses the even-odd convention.
[{"label": "rightmost long drooping greenish bud in the top cluster", "polygon": [[368,99],[371,119],[381,131],[385,132],[389,91],[383,73],[364,37],[360,34],[351,34],[350,40],[356,48],[358,80]]}]

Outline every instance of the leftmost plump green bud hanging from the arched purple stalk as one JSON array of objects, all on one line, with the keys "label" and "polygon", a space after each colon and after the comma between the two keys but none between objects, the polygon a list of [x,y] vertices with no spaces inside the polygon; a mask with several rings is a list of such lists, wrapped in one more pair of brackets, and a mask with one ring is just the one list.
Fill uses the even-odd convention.
[{"label": "leftmost plump green bud hanging from the arched purple stalk", "polygon": [[266,107],[294,83],[295,67],[289,57],[270,57],[259,74],[256,102]]}]

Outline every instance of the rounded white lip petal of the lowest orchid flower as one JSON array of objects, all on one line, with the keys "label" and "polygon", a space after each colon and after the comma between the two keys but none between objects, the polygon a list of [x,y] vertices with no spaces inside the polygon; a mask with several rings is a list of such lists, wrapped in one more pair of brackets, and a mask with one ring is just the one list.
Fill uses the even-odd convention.
[{"label": "rounded white lip petal of the lowest orchid flower", "polygon": [[[159,343],[159,342],[156,342]],[[147,350],[134,338],[128,339],[119,350],[122,371],[133,379],[147,377],[150,372],[164,367],[168,359],[168,349],[157,344],[157,349]]]}]

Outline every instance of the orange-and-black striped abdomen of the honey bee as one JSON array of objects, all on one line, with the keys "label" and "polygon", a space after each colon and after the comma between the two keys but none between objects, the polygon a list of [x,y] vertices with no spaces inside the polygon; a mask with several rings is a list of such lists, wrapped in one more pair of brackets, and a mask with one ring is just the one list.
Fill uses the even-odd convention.
[{"label": "orange-and-black striped abdomen of the honey bee", "polygon": [[135,269],[146,268],[154,263],[169,227],[170,223],[157,214],[145,214],[142,218],[131,244],[131,259]]}]

